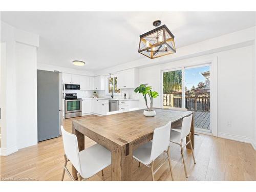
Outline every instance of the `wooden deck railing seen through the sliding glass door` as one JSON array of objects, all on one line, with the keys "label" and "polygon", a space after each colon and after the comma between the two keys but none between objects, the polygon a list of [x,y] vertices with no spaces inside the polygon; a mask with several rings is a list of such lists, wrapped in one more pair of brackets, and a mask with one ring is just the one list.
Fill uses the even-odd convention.
[{"label": "wooden deck railing seen through the sliding glass door", "polygon": [[[182,97],[174,94],[163,94],[163,106],[182,108]],[[210,111],[210,97],[185,96],[185,108],[191,111]]]}]

